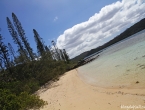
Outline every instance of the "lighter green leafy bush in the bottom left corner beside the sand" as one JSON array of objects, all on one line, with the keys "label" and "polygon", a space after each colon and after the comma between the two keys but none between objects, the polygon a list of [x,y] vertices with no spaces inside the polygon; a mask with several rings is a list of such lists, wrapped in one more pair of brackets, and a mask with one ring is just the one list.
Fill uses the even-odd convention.
[{"label": "lighter green leafy bush in the bottom left corner beside the sand", "polygon": [[16,95],[7,89],[0,89],[0,110],[38,109],[47,103],[36,95],[22,92]]}]

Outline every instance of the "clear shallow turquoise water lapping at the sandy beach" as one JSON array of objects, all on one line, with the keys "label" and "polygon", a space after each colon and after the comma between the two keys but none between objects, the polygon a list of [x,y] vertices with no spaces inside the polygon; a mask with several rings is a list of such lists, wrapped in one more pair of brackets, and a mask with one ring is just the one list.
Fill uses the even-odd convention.
[{"label": "clear shallow turquoise water lapping at the sandy beach", "polygon": [[99,54],[77,69],[83,80],[106,88],[145,88],[145,30]]}]

